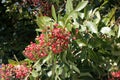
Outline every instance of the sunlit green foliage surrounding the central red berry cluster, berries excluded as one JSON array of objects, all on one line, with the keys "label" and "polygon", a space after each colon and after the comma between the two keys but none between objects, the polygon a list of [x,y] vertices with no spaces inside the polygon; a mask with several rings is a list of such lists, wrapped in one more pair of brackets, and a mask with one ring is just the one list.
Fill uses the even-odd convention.
[{"label": "sunlit green foliage surrounding the central red berry cluster, berries excluded", "polygon": [[107,80],[111,78],[111,71],[119,70],[119,26],[114,24],[116,8],[101,16],[101,7],[94,9],[90,6],[88,1],[83,1],[74,8],[72,0],[68,0],[64,16],[56,15],[52,6],[53,19],[37,17],[37,30],[45,33],[48,40],[49,31],[56,28],[56,23],[57,28],[69,31],[71,38],[66,51],[57,55],[50,51],[48,56],[35,63],[33,77],[46,80]]}]

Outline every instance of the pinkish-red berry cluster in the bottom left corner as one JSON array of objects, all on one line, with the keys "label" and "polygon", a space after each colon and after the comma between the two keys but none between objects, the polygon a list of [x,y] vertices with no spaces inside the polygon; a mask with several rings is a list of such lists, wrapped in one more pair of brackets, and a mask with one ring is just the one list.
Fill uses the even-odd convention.
[{"label": "pinkish-red berry cluster in the bottom left corner", "polygon": [[14,66],[12,64],[6,64],[6,65],[3,64],[0,70],[0,78],[2,80],[11,80],[11,79],[23,80],[30,71],[31,69],[25,65]]}]

